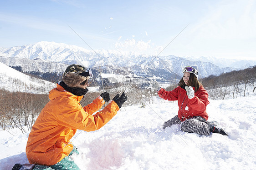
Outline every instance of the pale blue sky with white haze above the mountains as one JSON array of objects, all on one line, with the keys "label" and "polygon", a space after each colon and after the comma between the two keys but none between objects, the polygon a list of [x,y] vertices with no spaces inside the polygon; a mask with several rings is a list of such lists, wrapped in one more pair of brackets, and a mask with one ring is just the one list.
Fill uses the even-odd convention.
[{"label": "pale blue sky with white haze above the mountains", "polygon": [[90,50],[68,25],[93,50],[256,60],[256,0],[0,1],[0,47],[54,41]]}]

